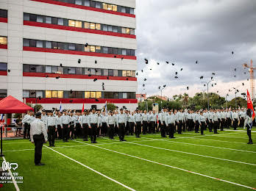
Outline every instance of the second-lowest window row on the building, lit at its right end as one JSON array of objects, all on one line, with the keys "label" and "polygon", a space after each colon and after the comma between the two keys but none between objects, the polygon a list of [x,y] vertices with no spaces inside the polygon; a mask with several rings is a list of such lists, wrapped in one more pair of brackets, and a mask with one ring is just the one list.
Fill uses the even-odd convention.
[{"label": "second-lowest window row on the building, lit at its right end", "polygon": [[[0,63],[1,68],[7,71],[6,68]],[[97,75],[97,76],[124,76],[135,77],[135,71],[121,71],[113,69],[101,69],[101,68],[78,68],[78,67],[66,67],[66,66],[54,66],[54,65],[23,65],[24,72],[36,72],[36,73],[60,73],[60,74],[79,74],[79,75]]]}]

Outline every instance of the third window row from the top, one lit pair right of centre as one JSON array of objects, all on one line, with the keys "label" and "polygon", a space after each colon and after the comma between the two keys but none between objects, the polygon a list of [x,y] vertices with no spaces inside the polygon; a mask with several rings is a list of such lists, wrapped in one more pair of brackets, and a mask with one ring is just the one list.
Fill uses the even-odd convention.
[{"label": "third window row from the top, one lit pair right of centre", "polygon": [[32,39],[25,39],[25,38],[23,40],[23,46],[135,56],[135,50],[132,50],[132,49],[92,46],[87,44],[83,45],[83,44],[74,44],[74,43],[60,43],[60,42],[52,42],[52,41],[46,41],[46,40],[32,40]]}]

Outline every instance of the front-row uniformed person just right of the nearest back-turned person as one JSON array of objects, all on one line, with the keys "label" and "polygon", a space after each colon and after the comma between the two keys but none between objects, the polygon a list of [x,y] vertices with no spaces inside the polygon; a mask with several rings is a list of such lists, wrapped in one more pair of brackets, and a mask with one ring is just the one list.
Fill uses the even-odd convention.
[{"label": "front-row uniformed person just right of the nearest back-turned person", "polygon": [[57,131],[57,119],[53,112],[49,112],[49,117],[46,118],[46,129],[49,137],[49,147],[54,147],[55,132]]}]

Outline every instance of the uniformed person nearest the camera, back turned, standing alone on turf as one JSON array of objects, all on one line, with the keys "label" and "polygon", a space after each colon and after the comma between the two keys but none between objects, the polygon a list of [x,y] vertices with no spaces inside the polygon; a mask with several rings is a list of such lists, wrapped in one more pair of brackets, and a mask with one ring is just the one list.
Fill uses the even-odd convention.
[{"label": "uniformed person nearest the camera, back turned, standing alone on turf", "polygon": [[43,120],[40,120],[41,113],[37,112],[35,114],[35,120],[30,124],[30,135],[31,143],[35,144],[35,165],[41,166],[44,165],[41,163],[42,159],[42,148],[43,143],[47,142],[47,132],[46,126],[43,123]]}]

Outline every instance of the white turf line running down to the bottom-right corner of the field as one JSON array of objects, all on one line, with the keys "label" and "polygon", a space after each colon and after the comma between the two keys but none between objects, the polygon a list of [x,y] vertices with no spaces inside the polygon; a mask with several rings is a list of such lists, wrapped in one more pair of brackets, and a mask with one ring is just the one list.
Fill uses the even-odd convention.
[{"label": "white turf line running down to the bottom-right corner of the field", "polygon": [[[78,143],[82,143],[82,142],[77,141],[77,140],[73,140],[73,141],[78,142]],[[128,142],[128,143],[129,143],[129,142]],[[82,143],[82,144],[88,144],[88,143]],[[90,145],[90,144],[88,144],[88,145]],[[96,146],[96,145],[91,145],[91,146],[96,147],[96,148],[102,148],[102,147],[99,147],[99,146]],[[215,179],[215,180],[218,180],[218,181],[224,181],[224,182],[227,182],[227,183],[230,183],[230,184],[235,184],[235,185],[240,186],[240,187],[246,187],[246,188],[249,188],[249,189],[252,189],[252,190],[256,190],[256,188],[253,188],[253,187],[248,187],[248,186],[246,186],[246,185],[238,184],[238,183],[235,183],[235,182],[232,182],[232,181],[226,181],[226,180],[224,180],[224,179],[217,179],[217,178],[215,178],[215,177],[213,177],[213,176],[207,176],[207,175],[202,174],[202,173],[195,173],[195,172],[193,172],[193,171],[185,170],[185,169],[182,169],[182,168],[180,168],[180,167],[174,167],[174,166],[171,166],[171,165],[165,165],[165,164],[160,163],[160,162],[154,162],[154,161],[152,161],[152,160],[143,159],[143,158],[138,157],[138,156],[132,156],[132,155],[130,155],[130,154],[124,154],[124,153],[121,153],[121,152],[118,152],[118,151],[110,150],[110,149],[108,149],[108,148],[102,148],[102,149],[104,149],[104,150],[106,150],[106,151],[112,151],[112,152],[117,153],[117,154],[123,154],[123,155],[125,155],[125,156],[130,156],[130,157],[135,158],[135,159],[141,159],[141,160],[144,160],[144,161],[147,161],[147,162],[152,162],[152,163],[157,164],[157,165],[163,165],[163,166],[171,167],[171,168],[174,168],[174,169],[177,169],[177,170],[182,170],[182,171],[185,171],[185,172],[187,172],[187,173],[193,173],[193,174],[196,174],[196,175],[199,175],[199,176],[204,176],[204,177],[207,177],[207,178],[210,178],[210,179]]]}]

